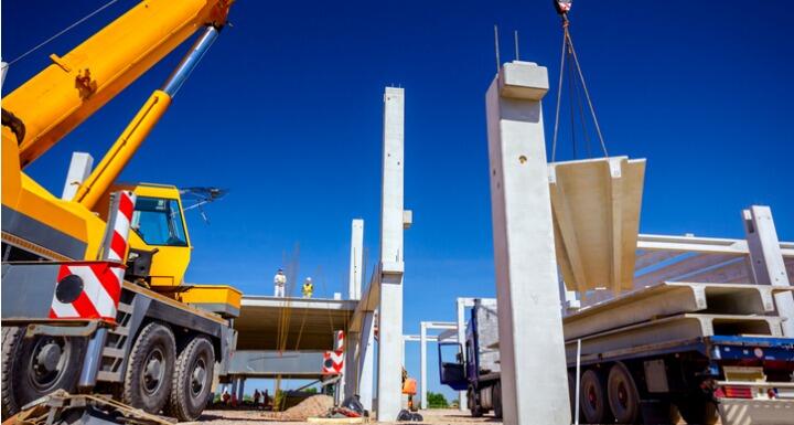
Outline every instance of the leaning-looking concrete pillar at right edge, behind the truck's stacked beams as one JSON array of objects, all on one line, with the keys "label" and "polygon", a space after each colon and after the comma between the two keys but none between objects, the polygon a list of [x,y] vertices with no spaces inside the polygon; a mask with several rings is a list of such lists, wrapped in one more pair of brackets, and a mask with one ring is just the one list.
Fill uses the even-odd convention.
[{"label": "leaning-looking concrete pillar at right edge, behind the truck's stacked beams", "polygon": [[[755,285],[791,286],[772,220],[772,210],[769,206],[753,205],[742,211],[742,216]],[[794,296],[791,291],[782,291],[774,297],[777,314],[784,318],[783,336],[794,338]]]}]

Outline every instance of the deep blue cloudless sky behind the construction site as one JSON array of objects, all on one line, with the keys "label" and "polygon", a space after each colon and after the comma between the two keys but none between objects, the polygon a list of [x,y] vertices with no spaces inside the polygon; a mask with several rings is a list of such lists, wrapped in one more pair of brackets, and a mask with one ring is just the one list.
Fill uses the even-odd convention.
[{"label": "deep blue cloudless sky behind the construction site", "polygon": [[[103,2],[6,1],[2,57]],[[14,64],[2,93],[136,2],[121,0]],[[740,211],[768,204],[794,240],[794,28],[791,2],[577,1],[573,40],[612,155],[647,158],[641,230],[741,237]],[[228,188],[191,212],[187,279],[271,291],[300,244],[301,275],[318,296],[343,291],[350,221],[363,217],[377,256],[382,93],[406,88],[405,330],[452,320],[455,296],[493,296],[484,93],[502,59],[559,62],[550,1],[242,0],[216,44],[122,173],[128,181]],[[178,49],[28,171],[60,193],[68,156],[98,160],[180,60]],[[554,94],[544,104],[551,135]],[[559,159],[570,159],[561,135]],[[432,354],[434,349],[430,350]],[[408,369],[418,374],[418,347]],[[432,360],[432,357],[431,357]],[[430,362],[429,375],[436,376]],[[438,382],[431,381],[431,390]]]}]

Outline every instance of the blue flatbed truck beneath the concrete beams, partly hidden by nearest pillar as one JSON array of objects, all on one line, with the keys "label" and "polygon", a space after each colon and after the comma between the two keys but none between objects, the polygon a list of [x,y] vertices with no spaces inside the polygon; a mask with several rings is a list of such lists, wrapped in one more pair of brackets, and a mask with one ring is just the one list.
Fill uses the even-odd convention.
[{"label": "blue flatbed truck beneath the concrete beams, partly hidden by nearest pillar", "polygon": [[[722,320],[712,316],[694,315],[666,323],[684,322],[693,330],[699,325],[689,326],[687,320],[706,325]],[[754,327],[755,319],[770,323],[774,336],[665,339],[657,328],[633,323],[570,339],[566,353],[571,411],[579,389],[581,423],[676,424],[683,418],[689,424],[713,424],[718,417],[722,425],[794,423],[794,339],[774,331],[775,318],[753,317],[747,322]],[[465,346],[439,344],[441,383],[466,391],[473,416],[493,411],[500,417],[502,413],[495,323],[495,302],[475,300]],[[686,333],[682,329],[664,330],[668,336]],[[656,332],[659,342],[640,342],[648,332]],[[442,351],[449,346],[458,347],[458,355],[444,361]],[[483,362],[483,354],[491,358]]]}]

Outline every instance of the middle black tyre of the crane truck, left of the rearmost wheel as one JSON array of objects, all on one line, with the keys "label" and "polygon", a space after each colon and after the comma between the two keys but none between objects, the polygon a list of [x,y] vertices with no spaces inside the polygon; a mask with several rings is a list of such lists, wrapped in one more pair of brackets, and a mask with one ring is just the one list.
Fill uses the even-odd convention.
[{"label": "middle black tyre of the crane truck, left of the rearmost wheel", "polygon": [[152,322],[141,330],[127,360],[124,402],[159,413],[171,392],[176,343],[168,327]]}]

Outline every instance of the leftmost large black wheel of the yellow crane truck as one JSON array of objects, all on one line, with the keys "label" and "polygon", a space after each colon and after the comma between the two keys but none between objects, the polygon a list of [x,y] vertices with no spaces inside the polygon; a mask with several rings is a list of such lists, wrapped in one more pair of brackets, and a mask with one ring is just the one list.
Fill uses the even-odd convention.
[{"label": "leftmost large black wheel of the yellow crane truck", "polygon": [[85,352],[85,338],[35,336],[24,327],[2,328],[2,416],[55,390],[74,392]]}]

